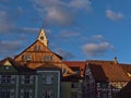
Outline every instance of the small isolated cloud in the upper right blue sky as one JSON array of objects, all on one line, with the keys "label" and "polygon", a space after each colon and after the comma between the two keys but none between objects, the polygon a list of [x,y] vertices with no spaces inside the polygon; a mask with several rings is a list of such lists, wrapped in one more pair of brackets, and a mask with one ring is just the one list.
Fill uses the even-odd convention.
[{"label": "small isolated cloud in the upper right blue sky", "polygon": [[119,12],[114,12],[111,10],[106,10],[106,16],[112,21],[119,21],[123,19],[123,15]]}]

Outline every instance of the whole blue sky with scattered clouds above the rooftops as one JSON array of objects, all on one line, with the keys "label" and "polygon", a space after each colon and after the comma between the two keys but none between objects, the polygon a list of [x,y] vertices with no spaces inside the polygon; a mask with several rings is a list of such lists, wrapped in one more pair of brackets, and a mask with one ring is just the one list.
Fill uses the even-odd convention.
[{"label": "whole blue sky with scattered clouds above the rooftops", "polygon": [[131,0],[0,0],[0,59],[32,45],[44,27],[63,60],[131,63]]}]

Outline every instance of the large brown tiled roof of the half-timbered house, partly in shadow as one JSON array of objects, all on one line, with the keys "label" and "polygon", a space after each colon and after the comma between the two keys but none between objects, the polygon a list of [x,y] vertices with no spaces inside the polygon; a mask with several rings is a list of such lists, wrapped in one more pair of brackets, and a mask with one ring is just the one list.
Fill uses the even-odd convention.
[{"label": "large brown tiled roof of the half-timbered house, partly in shadow", "polygon": [[88,68],[95,81],[129,81],[129,76],[119,65],[114,61],[87,61]]}]

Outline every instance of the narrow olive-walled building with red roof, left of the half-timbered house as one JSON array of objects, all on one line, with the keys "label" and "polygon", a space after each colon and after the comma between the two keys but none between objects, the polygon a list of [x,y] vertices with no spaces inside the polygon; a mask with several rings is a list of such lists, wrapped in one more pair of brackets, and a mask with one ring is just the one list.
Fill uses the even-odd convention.
[{"label": "narrow olive-walled building with red roof, left of the half-timbered house", "polygon": [[85,61],[63,61],[76,74],[61,79],[61,98],[82,98],[83,74]]}]

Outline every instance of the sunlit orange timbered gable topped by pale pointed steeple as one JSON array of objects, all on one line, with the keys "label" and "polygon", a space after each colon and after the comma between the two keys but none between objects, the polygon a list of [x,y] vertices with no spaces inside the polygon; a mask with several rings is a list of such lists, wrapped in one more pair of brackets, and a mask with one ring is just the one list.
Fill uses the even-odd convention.
[{"label": "sunlit orange timbered gable topped by pale pointed steeple", "polygon": [[61,61],[60,57],[58,57],[58,54],[53,53],[48,48],[47,42],[45,44],[41,39],[39,39],[40,36],[44,36],[45,38],[43,30],[40,32],[41,35],[39,34],[38,39],[19,56],[16,56],[14,60],[31,69],[36,69],[45,64],[50,65],[51,63],[60,68],[64,75],[74,74],[74,72]]}]

